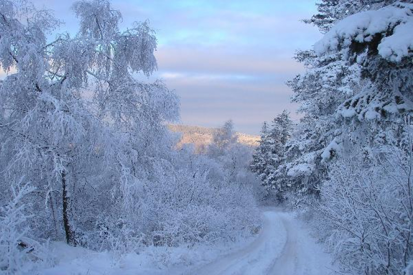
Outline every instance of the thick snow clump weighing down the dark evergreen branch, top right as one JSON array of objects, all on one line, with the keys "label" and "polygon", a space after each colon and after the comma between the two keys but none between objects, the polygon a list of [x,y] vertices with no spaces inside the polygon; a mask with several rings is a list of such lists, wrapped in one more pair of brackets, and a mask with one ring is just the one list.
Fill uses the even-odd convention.
[{"label": "thick snow clump weighing down the dark evergreen branch, top right", "polygon": [[413,49],[413,4],[396,3],[379,10],[361,12],[338,22],[314,45],[317,55],[348,47],[352,41],[370,42],[377,33],[393,33],[381,39],[379,54],[393,62],[399,62]]}]

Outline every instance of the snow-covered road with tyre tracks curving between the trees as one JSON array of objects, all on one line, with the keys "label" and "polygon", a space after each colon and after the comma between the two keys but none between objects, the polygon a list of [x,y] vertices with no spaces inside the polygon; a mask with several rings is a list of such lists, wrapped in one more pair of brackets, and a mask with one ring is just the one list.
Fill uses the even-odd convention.
[{"label": "snow-covered road with tyre tracks curving between the trees", "polygon": [[265,210],[257,239],[246,247],[192,270],[197,275],[328,275],[329,255],[289,213]]}]

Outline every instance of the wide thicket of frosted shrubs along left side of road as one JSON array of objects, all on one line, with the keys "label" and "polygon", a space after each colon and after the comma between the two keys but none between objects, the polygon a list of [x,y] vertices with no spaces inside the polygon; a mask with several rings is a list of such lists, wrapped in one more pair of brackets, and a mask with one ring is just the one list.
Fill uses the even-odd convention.
[{"label": "wide thicket of frosted shrubs along left side of road", "polygon": [[[140,246],[179,246],[235,240],[251,235],[259,214],[250,186],[228,182],[228,171],[189,148],[150,158],[146,167],[122,172],[111,191],[113,211],[96,218],[85,232],[96,250],[138,250]],[[126,160],[126,159],[124,159]],[[97,231],[97,234],[94,233]]]}]

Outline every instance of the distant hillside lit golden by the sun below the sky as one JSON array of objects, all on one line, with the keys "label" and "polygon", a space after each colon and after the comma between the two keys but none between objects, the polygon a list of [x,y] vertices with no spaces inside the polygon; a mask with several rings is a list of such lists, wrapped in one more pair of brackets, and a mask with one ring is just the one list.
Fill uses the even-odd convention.
[{"label": "distant hillside lit golden by the sun below the sky", "polygon": [[[193,143],[197,152],[202,152],[212,142],[212,135],[217,129],[201,126],[168,125],[173,132],[182,133],[179,146]],[[258,146],[259,136],[237,132],[238,142],[249,146]]]}]

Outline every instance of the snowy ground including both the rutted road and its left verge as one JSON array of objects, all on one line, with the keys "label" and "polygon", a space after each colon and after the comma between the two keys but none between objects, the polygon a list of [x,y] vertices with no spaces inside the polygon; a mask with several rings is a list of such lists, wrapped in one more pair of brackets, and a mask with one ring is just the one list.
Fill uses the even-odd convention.
[{"label": "snowy ground including both the rutted road and its left verge", "polygon": [[[328,275],[329,255],[293,215],[263,210],[258,237],[228,247],[148,248],[116,258],[55,243],[56,266],[40,275]],[[217,255],[220,255],[217,257]]]}]

